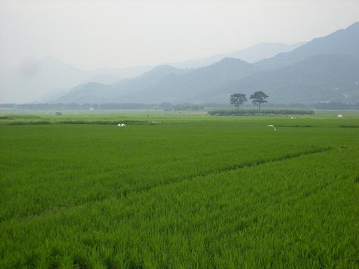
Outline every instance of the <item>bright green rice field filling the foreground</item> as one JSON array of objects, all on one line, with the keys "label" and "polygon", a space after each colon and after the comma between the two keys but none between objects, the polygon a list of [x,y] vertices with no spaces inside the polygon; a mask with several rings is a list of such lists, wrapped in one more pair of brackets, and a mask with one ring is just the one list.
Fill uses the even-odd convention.
[{"label": "bright green rice field filling the foreground", "polygon": [[359,268],[359,115],[335,113],[3,118],[0,268]]}]

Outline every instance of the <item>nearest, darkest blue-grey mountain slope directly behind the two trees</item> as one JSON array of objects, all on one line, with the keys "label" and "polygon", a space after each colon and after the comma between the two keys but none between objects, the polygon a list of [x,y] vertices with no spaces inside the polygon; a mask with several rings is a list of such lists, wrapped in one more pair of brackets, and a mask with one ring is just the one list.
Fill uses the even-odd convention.
[{"label": "nearest, darkest blue-grey mountain slope directly behind the two trees", "polygon": [[314,55],[290,67],[262,71],[217,91],[224,102],[233,92],[262,90],[269,102],[359,102],[359,60],[347,55]]}]

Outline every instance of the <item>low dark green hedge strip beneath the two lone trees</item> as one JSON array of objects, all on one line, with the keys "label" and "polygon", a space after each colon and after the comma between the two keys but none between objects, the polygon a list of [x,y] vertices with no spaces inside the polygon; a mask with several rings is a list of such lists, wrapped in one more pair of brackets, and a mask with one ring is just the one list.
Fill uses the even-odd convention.
[{"label": "low dark green hedge strip beneath the two lone trees", "polygon": [[313,115],[313,110],[305,109],[228,109],[208,111],[211,116],[247,116],[247,115]]}]

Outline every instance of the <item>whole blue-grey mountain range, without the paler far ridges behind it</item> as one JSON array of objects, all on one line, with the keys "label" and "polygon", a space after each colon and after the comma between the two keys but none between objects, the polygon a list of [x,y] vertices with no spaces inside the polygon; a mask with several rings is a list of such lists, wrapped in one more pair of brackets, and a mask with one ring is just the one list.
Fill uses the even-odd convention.
[{"label": "whole blue-grey mountain range, without the paler far ridges behind it", "polygon": [[359,22],[294,47],[259,62],[224,57],[206,67],[163,65],[118,83],[82,83],[52,102],[228,102],[233,92],[257,90],[270,102],[359,102]]}]

